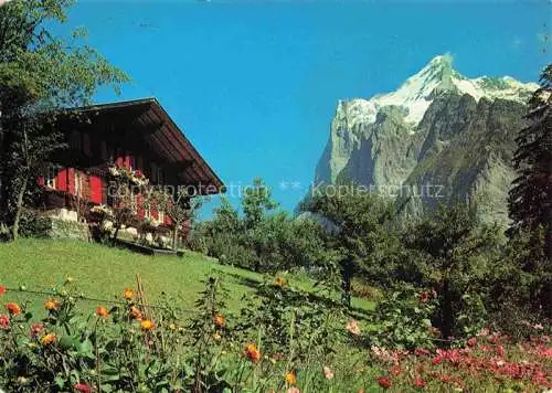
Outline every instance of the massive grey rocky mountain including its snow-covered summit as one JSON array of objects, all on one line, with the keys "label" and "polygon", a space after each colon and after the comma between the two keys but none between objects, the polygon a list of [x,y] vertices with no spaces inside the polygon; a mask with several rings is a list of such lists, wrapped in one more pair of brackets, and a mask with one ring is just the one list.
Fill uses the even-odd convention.
[{"label": "massive grey rocky mountain including its snow-covered summit", "polygon": [[396,92],[338,103],[315,181],[369,185],[407,200],[413,215],[467,200],[482,221],[505,224],[514,135],[537,87],[469,79],[437,56]]}]

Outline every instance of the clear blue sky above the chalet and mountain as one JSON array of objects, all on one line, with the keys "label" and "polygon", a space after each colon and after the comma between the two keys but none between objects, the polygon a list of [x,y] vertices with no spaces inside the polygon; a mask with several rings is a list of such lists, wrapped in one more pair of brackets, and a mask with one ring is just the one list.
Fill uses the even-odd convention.
[{"label": "clear blue sky above the chalet and mountain", "polygon": [[70,25],[134,79],[98,102],[156,96],[224,182],[262,177],[293,210],[338,99],[393,91],[445,52],[467,76],[535,81],[551,11],[546,0],[81,0]]}]

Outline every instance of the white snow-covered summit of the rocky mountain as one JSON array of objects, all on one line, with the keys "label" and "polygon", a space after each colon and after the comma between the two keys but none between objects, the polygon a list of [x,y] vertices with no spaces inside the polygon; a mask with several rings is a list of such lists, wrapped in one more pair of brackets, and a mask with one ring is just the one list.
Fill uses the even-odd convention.
[{"label": "white snow-covered summit of the rocky mountain", "polygon": [[375,95],[370,99],[340,102],[338,113],[340,109],[346,110],[342,115],[351,127],[357,123],[375,121],[381,107],[394,105],[404,108],[405,120],[415,126],[422,120],[435,97],[444,93],[469,94],[476,100],[486,97],[491,100],[503,98],[526,102],[537,88],[534,83],[521,83],[509,76],[467,78],[453,68],[453,57],[444,54],[432,59],[395,92]]}]

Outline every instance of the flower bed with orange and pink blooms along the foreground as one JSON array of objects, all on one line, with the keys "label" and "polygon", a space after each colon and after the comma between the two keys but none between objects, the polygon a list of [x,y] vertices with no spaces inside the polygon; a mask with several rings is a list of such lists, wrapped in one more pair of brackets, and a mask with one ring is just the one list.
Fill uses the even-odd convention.
[{"label": "flower bed with orange and pink blooms along the foreground", "polygon": [[[34,315],[26,304],[2,301],[1,387],[197,393],[414,392],[424,387],[538,392],[552,387],[550,338],[542,326],[533,327],[539,338],[521,346],[481,331],[461,349],[433,352],[408,346],[414,350],[406,351],[376,343],[372,331],[347,321],[342,306],[321,307],[310,294],[279,276],[247,296],[238,314],[227,310],[220,278],[209,277],[189,320],[178,317],[170,297],[164,297],[162,308],[145,307],[140,291],[129,288],[119,298],[120,305],[78,310],[78,290],[75,282],[66,280],[44,297],[44,310]],[[10,291],[0,296],[4,300]],[[412,305],[402,310],[417,314],[415,301],[429,310],[431,297],[422,293],[416,300],[406,294],[394,300]],[[405,326],[405,318],[414,317],[413,327],[425,316],[424,311],[420,318],[400,316],[393,308],[389,302],[380,317]],[[389,327],[397,333],[396,326]]]}]

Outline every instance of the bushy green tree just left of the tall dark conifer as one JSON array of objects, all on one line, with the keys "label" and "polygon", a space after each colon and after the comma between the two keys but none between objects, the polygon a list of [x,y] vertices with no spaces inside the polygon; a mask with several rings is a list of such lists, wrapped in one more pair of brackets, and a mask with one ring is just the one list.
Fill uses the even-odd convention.
[{"label": "bushy green tree just left of the tall dark conifer", "polygon": [[467,337],[485,326],[489,273],[499,264],[498,229],[478,224],[467,206],[439,206],[407,227],[403,242],[416,269],[408,283],[439,295],[433,321],[444,338]]}]

